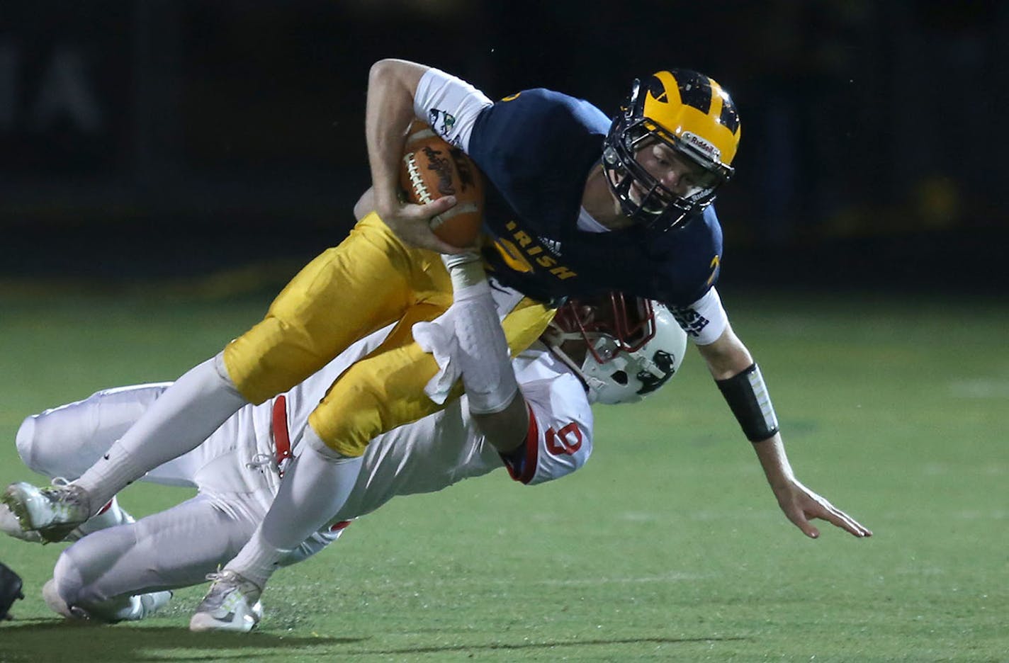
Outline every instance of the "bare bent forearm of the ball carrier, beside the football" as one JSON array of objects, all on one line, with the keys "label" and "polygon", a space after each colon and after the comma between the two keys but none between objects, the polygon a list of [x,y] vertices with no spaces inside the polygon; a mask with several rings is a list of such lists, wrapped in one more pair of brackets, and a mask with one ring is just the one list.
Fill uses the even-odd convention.
[{"label": "bare bent forearm of the ball carrier, beside the football", "polygon": [[400,156],[414,120],[414,95],[428,68],[402,60],[381,60],[368,74],[364,136],[379,215],[398,205]]}]

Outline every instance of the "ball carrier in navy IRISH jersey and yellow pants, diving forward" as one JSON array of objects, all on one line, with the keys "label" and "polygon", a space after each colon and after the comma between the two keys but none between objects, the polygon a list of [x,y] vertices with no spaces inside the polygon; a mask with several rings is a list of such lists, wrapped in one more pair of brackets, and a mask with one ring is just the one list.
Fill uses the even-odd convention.
[{"label": "ball carrier in navy IRISH jersey and yellow pants, diving forward", "polygon": [[[400,158],[415,119],[429,122],[482,172],[488,191],[479,247],[452,247],[431,232],[429,219],[450,209],[452,196],[426,205],[401,199]],[[563,298],[619,290],[673,310],[754,443],[789,520],[813,538],[810,518],[869,536],[796,479],[764,379],[714,288],[721,231],[711,203],[733,175],[740,134],[728,95],[689,71],[636,82],[610,120],[556,92],[529,90],[493,103],[439,70],[376,63],[365,113],[372,190],[355,206],[361,218],[350,236],[296,275],[263,321],[167,389],[79,479],[46,488],[13,484],[4,502],[27,529],[63,538],[243,405],[290,390],[355,340],[397,323],[381,346],[336,378],[302,431],[305,454],[317,457],[318,469],[287,482],[312,503],[296,511],[306,521],[311,513],[336,513],[368,441],[437,412],[461,388],[475,416],[508,422],[502,430],[527,426],[508,362],[474,348],[503,335],[515,355],[540,336]],[[449,307],[470,309],[467,324],[453,330],[462,384],[432,390],[442,370],[413,329]],[[244,563],[267,568],[286,553],[279,540],[259,544]]]}]

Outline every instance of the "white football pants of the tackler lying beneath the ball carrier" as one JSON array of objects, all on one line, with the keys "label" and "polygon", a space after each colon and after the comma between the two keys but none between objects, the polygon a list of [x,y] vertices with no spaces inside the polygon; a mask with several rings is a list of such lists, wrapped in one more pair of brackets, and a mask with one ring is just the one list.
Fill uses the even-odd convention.
[{"label": "white football pants of the tackler lying beneath the ball carrier", "polygon": [[[27,418],[17,449],[31,469],[74,479],[91,466],[167,388],[166,383],[107,390]],[[86,536],[57,561],[61,597],[85,611],[109,599],[204,582],[234,557],[273,499],[275,477],[255,463],[251,406],[206,442],[143,477],[192,486],[198,494],[166,511]],[[318,552],[341,531],[316,534],[286,563]]]}]

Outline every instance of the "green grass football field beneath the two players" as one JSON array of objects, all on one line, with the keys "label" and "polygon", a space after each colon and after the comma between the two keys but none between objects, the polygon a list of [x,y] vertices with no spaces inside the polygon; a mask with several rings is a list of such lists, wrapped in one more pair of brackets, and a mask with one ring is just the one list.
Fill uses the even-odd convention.
[{"label": "green grass football field beneath the two players", "polygon": [[[248,636],[187,630],[204,587],[137,626],[66,625],[38,594],[61,546],[0,541],[27,593],[0,661],[1009,660],[1009,306],[723,296],[798,476],[872,539],[781,516],[691,353],[653,399],[597,409],[574,476],[394,501],[274,576]],[[0,297],[0,482],[38,478],[14,450],[24,416],[171,379],[266,301]],[[185,496],[138,484],[123,504]]]}]

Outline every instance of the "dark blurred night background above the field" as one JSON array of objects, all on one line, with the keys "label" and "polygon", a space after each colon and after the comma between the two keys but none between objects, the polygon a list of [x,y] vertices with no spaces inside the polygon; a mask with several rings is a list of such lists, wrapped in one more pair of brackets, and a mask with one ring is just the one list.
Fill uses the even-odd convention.
[{"label": "dark blurred night background above the field", "polygon": [[657,69],[716,79],[743,120],[723,285],[1009,285],[1009,3],[32,0],[0,4],[0,288],[337,243],[386,57],[608,114]]}]

